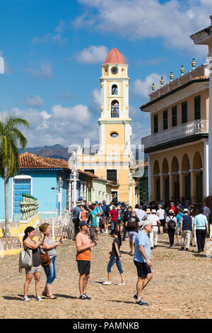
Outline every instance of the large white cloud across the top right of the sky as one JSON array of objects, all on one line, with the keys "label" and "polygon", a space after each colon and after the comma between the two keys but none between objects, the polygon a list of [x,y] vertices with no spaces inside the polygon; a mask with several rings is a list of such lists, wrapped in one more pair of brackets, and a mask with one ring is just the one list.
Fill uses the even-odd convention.
[{"label": "large white cloud across the top right of the sky", "polygon": [[[208,17],[212,11],[211,0],[186,4],[177,0],[163,4],[158,0],[78,1],[86,8],[86,13],[76,18],[78,28],[90,22],[102,33],[114,33],[131,40],[163,38],[167,47],[206,52],[206,47],[194,46],[189,35],[211,24]],[[97,14],[94,16],[88,9],[95,9]],[[118,9],[118,13],[114,9]]]}]

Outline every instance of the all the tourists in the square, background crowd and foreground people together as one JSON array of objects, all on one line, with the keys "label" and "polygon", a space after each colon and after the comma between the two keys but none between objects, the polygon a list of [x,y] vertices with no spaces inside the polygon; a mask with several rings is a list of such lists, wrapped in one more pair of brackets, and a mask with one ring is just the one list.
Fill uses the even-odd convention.
[{"label": "all the tourists in the square, background crowd and foreground people together", "polygon": [[[122,242],[129,238],[129,254],[133,257],[138,273],[136,294],[133,296],[139,305],[148,305],[141,298],[142,290],[147,286],[153,274],[151,272],[151,250],[158,246],[158,233],[163,235],[167,232],[170,240],[170,248],[179,246],[181,250],[189,251],[189,247],[198,248],[198,252],[204,252],[205,238],[208,235],[210,208],[206,203],[203,207],[192,204],[191,201],[177,201],[174,203],[146,203],[136,205],[134,209],[126,203],[113,201],[107,205],[102,203],[87,203],[80,200],[73,208],[72,218],[74,225],[74,239],[76,241],[76,262],[78,266],[78,287],[81,300],[90,300],[86,292],[90,276],[91,249],[98,244],[101,234],[109,234],[113,239],[112,250],[109,253],[110,260],[107,264],[107,281],[104,285],[112,283],[112,266],[116,264],[120,273],[119,286],[125,286],[124,272],[122,269],[122,254],[120,247]],[[52,282],[57,276],[55,259],[57,246],[62,244],[54,242],[51,238],[49,224],[40,225],[40,237],[35,242],[35,229],[28,227],[23,237],[23,246],[32,249],[33,266],[25,269],[26,280],[24,284],[24,300],[28,301],[28,286],[33,276],[35,278],[36,298],[40,297],[40,274],[43,266],[47,276],[47,282],[42,296],[56,299],[52,294]],[[175,242],[176,239],[176,242]],[[212,240],[212,229],[210,230]]]}]

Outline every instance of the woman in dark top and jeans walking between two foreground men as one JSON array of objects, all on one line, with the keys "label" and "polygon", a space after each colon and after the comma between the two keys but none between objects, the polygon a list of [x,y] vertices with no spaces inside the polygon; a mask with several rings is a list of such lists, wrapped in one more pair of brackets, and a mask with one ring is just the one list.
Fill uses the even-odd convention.
[{"label": "woman in dark top and jeans walking between two foreground men", "polygon": [[118,283],[119,286],[125,286],[124,283],[124,274],[123,274],[123,270],[122,270],[122,256],[119,252],[119,249],[122,245],[122,237],[120,235],[120,232],[118,232],[117,230],[112,230],[112,232],[110,232],[110,235],[112,236],[112,238],[114,238],[114,241],[112,243],[112,251],[109,252],[110,254],[110,261],[107,265],[107,281],[103,282],[103,284],[105,285],[110,285],[111,284],[111,268],[114,265],[114,263],[117,264],[117,269],[119,270],[119,273],[121,275],[121,279],[122,282]]}]

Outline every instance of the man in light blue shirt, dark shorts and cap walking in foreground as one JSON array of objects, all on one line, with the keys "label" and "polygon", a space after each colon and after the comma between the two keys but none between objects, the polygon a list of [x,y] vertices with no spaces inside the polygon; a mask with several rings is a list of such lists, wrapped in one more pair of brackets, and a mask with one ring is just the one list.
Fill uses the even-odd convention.
[{"label": "man in light blue shirt, dark shorts and cap walking in foreground", "polygon": [[149,242],[149,234],[152,232],[153,224],[149,220],[143,221],[141,231],[138,233],[135,239],[135,254],[134,264],[136,265],[138,273],[138,281],[136,285],[137,293],[134,295],[136,304],[148,305],[143,298],[141,298],[141,292],[147,286],[149,281],[153,278],[151,272],[151,245]]}]

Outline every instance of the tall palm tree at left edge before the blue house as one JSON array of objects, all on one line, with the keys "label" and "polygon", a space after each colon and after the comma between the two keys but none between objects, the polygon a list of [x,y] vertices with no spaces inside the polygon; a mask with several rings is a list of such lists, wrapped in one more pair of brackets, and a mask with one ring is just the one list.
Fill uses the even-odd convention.
[{"label": "tall palm tree at left edge before the blue house", "polygon": [[27,140],[18,126],[29,128],[27,120],[17,118],[16,115],[8,115],[0,121],[0,176],[4,178],[4,203],[5,203],[5,232],[4,236],[10,236],[9,225],[9,186],[10,177],[16,176],[19,169],[18,144],[24,150]]}]

